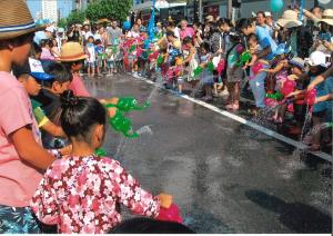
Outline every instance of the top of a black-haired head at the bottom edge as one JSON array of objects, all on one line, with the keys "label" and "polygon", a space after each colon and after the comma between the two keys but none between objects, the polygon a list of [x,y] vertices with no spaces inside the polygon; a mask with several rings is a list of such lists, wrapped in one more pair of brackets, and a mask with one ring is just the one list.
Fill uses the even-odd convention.
[{"label": "top of a black-haired head at the bottom edge", "polygon": [[109,234],[195,234],[195,232],[179,223],[139,217],[120,223]]}]

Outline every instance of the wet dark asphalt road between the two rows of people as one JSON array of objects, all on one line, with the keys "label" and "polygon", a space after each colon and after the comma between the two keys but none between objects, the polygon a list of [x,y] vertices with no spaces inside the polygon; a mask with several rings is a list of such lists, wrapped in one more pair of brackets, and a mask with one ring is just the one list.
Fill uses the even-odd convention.
[{"label": "wet dark asphalt road between the two rows of people", "polygon": [[129,76],[85,83],[99,98],[152,96],[149,109],[128,115],[145,132],[124,139],[109,129],[104,148],[143,188],[173,195],[195,232],[332,230],[329,163]]}]

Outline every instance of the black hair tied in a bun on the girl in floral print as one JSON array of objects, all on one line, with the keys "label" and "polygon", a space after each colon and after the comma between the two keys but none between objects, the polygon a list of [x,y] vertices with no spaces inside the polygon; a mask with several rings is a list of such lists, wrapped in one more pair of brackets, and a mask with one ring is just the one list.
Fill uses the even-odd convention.
[{"label": "black hair tied in a bun on the girl in floral print", "polygon": [[80,141],[91,144],[91,131],[94,125],[103,125],[107,128],[107,109],[95,98],[77,97],[72,90],[61,95],[60,122],[64,134]]}]

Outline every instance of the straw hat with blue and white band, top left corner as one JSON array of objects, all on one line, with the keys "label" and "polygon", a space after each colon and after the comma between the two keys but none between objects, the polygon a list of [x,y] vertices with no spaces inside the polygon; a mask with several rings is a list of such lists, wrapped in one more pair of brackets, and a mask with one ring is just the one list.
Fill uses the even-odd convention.
[{"label": "straw hat with blue and white band, top left corner", "polygon": [[0,1],[0,40],[12,39],[30,32],[43,30],[37,27],[26,1]]}]

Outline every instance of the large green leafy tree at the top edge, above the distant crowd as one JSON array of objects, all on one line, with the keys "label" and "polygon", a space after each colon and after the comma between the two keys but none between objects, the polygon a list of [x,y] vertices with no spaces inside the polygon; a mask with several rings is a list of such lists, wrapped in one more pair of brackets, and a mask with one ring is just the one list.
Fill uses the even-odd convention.
[{"label": "large green leafy tree at the top edge, above the distant crowd", "polygon": [[102,18],[124,21],[132,8],[132,0],[100,0],[90,3],[85,10],[85,16],[90,21]]}]

